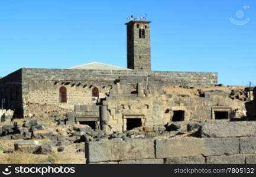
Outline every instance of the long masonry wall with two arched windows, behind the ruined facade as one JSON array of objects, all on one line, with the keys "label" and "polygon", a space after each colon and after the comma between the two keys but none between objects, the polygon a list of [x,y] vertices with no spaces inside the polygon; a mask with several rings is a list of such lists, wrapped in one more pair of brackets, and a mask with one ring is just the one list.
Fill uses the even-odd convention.
[{"label": "long masonry wall with two arched windows, behind the ruined facade", "polygon": [[[151,74],[152,76],[148,76]],[[131,75],[131,76],[126,76]],[[60,70],[22,68],[22,101],[24,116],[30,114],[29,104],[53,104],[74,110],[74,105],[92,104],[92,89],[99,89],[99,98],[105,98],[119,76],[145,76],[166,84],[216,84],[216,73],[137,72],[106,70]],[[125,78],[123,78],[125,80]],[[67,89],[67,103],[60,103],[60,87]]]}]

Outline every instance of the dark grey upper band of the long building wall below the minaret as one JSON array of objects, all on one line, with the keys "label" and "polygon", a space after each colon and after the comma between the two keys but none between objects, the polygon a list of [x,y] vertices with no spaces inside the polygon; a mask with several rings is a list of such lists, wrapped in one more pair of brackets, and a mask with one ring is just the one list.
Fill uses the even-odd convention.
[{"label": "dark grey upper band of the long building wall below the minaret", "polygon": [[[125,71],[125,70],[61,70],[22,68],[24,80],[115,80],[118,76],[161,76],[158,79],[173,84],[215,85],[218,73],[179,72],[179,71]],[[96,77],[96,78],[95,78]]]}]

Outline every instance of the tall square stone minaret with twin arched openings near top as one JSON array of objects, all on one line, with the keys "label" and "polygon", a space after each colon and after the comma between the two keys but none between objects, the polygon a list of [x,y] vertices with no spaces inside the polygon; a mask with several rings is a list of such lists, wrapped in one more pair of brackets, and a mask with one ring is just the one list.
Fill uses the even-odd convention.
[{"label": "tall square stone minaret with twin arched openings near top", "polygon": [[151,71],[150,21],[129,21],[127,24],[127,67]]}]

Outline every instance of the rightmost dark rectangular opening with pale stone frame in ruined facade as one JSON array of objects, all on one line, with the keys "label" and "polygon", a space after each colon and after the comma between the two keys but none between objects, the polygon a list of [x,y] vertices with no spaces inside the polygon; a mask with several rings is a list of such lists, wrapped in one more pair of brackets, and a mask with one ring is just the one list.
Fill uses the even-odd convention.
[{"label": "rightmost dark rectangular opening with pale stone frame in ruined facade", "polygon": [[231,107],[227,106],[213,106],[212,119],[213,120],[230,120]]}]

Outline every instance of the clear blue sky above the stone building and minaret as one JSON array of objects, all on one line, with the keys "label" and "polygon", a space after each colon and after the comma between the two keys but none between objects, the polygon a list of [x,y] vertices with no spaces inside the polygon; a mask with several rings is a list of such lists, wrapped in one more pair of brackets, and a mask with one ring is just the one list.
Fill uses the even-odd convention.
[{"label": "clear blue sky above the stone building and minaret", "polygon": [[2,0],[0,76],[92,61],[127,67],[126,18],[147,14],[152,70],[216,71],[219,83],[256,84],[255,8],[255,0]]}]

